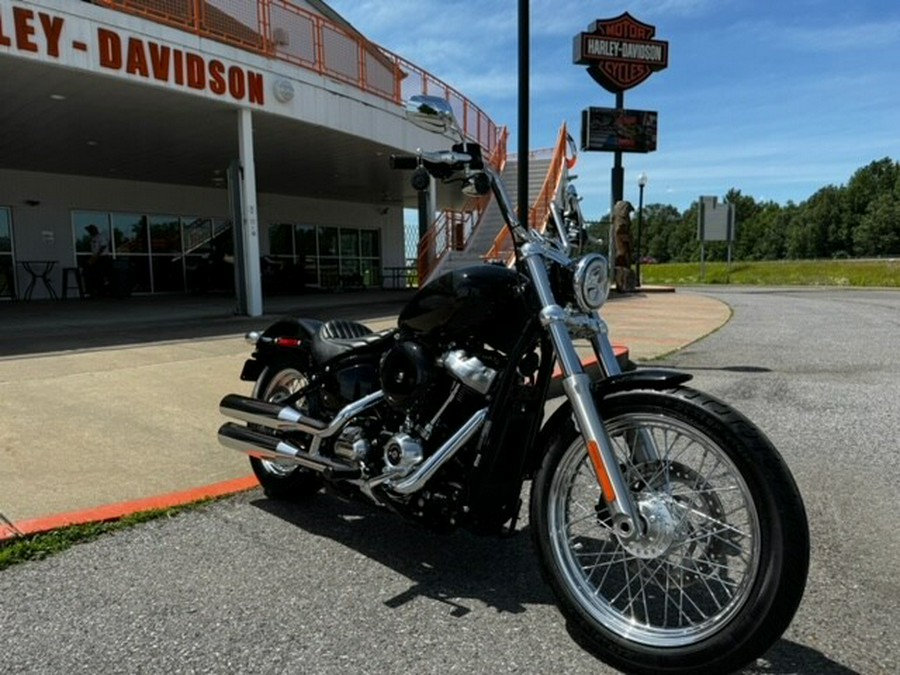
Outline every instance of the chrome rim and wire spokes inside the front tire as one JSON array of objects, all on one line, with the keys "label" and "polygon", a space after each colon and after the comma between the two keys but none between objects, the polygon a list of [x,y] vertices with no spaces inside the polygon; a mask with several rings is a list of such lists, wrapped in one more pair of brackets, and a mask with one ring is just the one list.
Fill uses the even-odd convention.
[{"label": "chrome rim and wire spokes inside the front tire", "polygon": [[[634,463],[640,429],[661,459]],[[585,610],[610,630],[678,647],[719,630],[741,608],[759,566],[759,520],[747,485],[709,438],[663,416],[609,426],[646,536],[613,533],[584,442],[574,440],[553,476],[551,546]]]}]

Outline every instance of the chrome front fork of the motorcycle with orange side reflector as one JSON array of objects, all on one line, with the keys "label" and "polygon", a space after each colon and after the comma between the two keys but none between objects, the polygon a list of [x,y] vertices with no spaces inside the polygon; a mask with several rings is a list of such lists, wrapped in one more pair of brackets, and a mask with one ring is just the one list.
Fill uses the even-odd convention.
[{"label": "chrome front fork of the motorcycle with orange side reflector", "polygon": [[586,329],[593,328],[590,339],[601,369],[607,376],[617,374],[621,371],[606,333],[606,324],[599,317],[569,315],[556,303],[550,290],[550,280],[539,246],[525,244],[522,247],[522,254],[543,308],[541,323],[550,334],[556,349],[562,370],[563,389],[572,404],[572,411],[587,446],[597,482],[612,514],[613,529],[623,540],[640,537],[642,528],[637,508],[619,469],[619,461],[606,432],[606,426],[591,395],[590,377],[584,371],[571,336],[573,329],[587,332]]}]

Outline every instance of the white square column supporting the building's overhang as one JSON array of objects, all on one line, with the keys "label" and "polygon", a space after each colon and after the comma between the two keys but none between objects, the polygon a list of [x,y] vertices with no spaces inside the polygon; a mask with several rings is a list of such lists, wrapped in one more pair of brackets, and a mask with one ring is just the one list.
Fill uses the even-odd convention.
[{"label": "white square column supporting the building's overhang", "polygon": [[241,235],[244,243],[244,287],[247,289],[247,315],[263,313],[262,279],[259,269],[259,219],[256,209],[256,164],[253,159],[253,114],[248,108],[238,111],[238,146],[243,180],[241,181]]}]

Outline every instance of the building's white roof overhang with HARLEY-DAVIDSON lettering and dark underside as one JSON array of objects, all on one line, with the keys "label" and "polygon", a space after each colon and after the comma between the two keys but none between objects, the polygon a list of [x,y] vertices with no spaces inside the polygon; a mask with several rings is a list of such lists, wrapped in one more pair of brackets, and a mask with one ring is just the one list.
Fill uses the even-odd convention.
[{"label": "building's white roof overhang with HARLEY-DAVIDSON lettering and dark underside", "polygon": [[[32,8],[36,4],[22,3]],[[54,0],[42,4],[63,7]],[[10,11],[9,5],[4,6],[4,12]],[[101,25],[111,25],[113,30],[119,29],[117,20],[124,30],[132,31],[148,23],[91,5],[80,14],[97,12],[103,13]],[[89,17],[67,15],[63,9],[58,14],[66,22],[90,24]],[[0,25],[12,25],[6,14],[0,19]],[[36,19],[35,23],[39,30]],[[96,24],[91,28],[96,33]],[[83,32],[81,26],[79,35]],[[148,34],[163,35],[159,41],[191,38],[155,24]],[[35,44],[40,43],[39,37],[34,37]],[[65,40],[63,35],[63,47],[68,48]],[[0,168],[210,187],[221,185],[229,164],[238,159],[240,106],[235,102],[199,96],[187,88],[129,80],[121,73],[112,77],[98,72],[95,65],[79,69],[34,58],[31,53],[17,53],[14,37],[11,42],[9,48],[0,46]],[[193,45],[197,49],[196,39]],[[242,57],[234,48],[208,42],[206,46],[227,50],[232,59]],[[88,59],[96,59],[92,48],[96,46],[89,43]],[[259,61],[250,65],[256,67]],[[266,72],[267,87],[279,74],[287,72],[290,77],[291,71],[301,70],[275,65],[280,70]],[[357,92],[356,99],[348,97],[348,85],[306,71],[297,76],[290,78],[298,90],[296,96],[306,96],[307,87],[315,89],[316,107],[322,108],[319,114],[327,123],[265,107],[254,109],[257,192],[414,206],[408,174],[390,171],[388,157],[445,142],[413,129],[396,104],[367,100],[374,97],[363,92]],[[274,98],[269,89],[267,95]],[[328,109],[332,105],[349,118],[370,115],[379,123],[372,125],[372,133],[346,131],[333,122]]]}]

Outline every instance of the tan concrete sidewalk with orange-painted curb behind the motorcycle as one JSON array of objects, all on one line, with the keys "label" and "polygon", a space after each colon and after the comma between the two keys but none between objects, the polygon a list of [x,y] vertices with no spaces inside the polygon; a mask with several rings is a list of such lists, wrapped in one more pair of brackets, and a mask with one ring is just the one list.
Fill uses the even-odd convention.
[{"label": "tan concrete sidewalk with orange-painted curb behind the motorcycle", "polygon": [[[0,539],[249,487],[246,456],[216,440],[222,396],[250,390],[238,379],[250,353],[244,332],[285,314],[356,318],[377,330],[394,325],[408,297],[267,299],[256,319],[234,316],[227,298],[5,303]],[[687,291],[617,295],[602,312],[613,342],[638,363],[707,335],[730,313]]]}]

